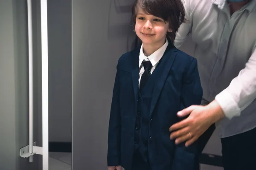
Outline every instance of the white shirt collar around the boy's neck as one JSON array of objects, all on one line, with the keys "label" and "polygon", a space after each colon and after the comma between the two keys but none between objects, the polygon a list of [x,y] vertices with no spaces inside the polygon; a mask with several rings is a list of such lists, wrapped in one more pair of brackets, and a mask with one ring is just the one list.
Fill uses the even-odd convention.
[{"label": "white shirt collar around the boy's neck", "polygon": [[169,42],[166,39],[166,43],[164,43],[164,45],[162,47],[160,47],[157,51],[155,51],[153,54],[151,54],[150,56],[145,56],[143,53],[143,45],[141,45],[140,47],[140,57],[139,57],[139,66],[141,65],[141,63],[143,62],[143,60],[145,59],[146,61],[150,61],[152,66],[154,67],[154,65],[156,65],[159,60],[163,57],[164,52],[166,51],[166,48],[168,46]]}]

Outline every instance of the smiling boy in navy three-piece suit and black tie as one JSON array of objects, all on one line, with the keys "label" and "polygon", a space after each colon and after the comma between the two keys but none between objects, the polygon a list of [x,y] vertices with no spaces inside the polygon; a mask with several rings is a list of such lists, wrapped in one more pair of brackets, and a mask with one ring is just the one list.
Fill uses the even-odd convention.
[{"label": "smiling boy in navy three-piece suit and black tie", "polygon": [[108,170],[193,170],[197,143],[186,147],[169,138],[176,114],[199,105],[197,61],[177,50],[175,34],[184,22],[180,0],[135,0],[140,48],[117,64],[109,134]]}]

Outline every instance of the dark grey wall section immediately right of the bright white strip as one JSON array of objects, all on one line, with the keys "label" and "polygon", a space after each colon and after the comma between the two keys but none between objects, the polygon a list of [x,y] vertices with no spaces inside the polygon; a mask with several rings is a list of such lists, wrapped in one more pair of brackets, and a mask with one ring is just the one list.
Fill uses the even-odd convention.
[{"label": "dark grey wall section immediately right of the bright white strip", "polygon": [[48,0],[49,142],[72,141],[71,0]]}]

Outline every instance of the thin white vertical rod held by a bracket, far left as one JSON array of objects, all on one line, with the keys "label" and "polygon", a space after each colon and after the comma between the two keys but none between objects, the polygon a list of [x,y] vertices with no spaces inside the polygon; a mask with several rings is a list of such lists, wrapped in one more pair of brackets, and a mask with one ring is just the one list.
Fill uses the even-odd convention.
[{"label": "thin white vertical rod held by a bracket, far left", "polygon": [[[29,153],[33,153],[33,42],[32,42],[32,6],[31,0],[28,3],[28,34],[29,34]],[[29,157],[29,162],[33,156]]]}]

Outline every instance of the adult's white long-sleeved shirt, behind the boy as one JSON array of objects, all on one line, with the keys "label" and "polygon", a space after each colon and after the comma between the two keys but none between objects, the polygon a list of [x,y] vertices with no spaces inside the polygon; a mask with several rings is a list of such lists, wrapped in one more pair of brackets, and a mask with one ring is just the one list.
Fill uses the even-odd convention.
[{"label": "adult's white long-sleeved shirt, behind the boy", "polygon": [[256,127],[256,0],[230,16],[226,0],[183,0],[186,18],[177,32],[179,48],[191,34],[204,89],[226,118],[217,122],[227,137]]}]

